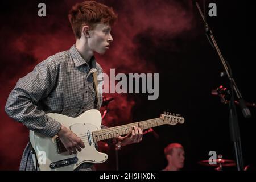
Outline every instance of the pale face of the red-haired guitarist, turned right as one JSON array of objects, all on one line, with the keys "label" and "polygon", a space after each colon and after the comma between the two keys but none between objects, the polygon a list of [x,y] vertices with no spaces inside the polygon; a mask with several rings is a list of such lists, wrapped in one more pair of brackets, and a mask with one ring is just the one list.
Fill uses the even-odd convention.
[{"label": "pale face of the red-haired guitarist, turned right", "polygon": [[111,27],[103,23],[98,23],[93,30],[89,31],[90,38],[88,39],[88,44],[90,49],[104,54],[109,49],[110,42],[113,41],[110,31]]}]

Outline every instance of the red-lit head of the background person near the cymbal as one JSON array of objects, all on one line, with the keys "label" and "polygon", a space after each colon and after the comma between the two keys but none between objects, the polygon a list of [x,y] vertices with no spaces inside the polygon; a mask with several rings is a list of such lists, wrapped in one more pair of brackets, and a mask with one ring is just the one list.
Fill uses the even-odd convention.
[{"label": "red-lit head of the background person near the cymbal", "polygon": [[184,166],[185,152],[183,146],[179,143],[171,143],[164,148],[164,154],[168,164],[163,171],[179,171]]}]

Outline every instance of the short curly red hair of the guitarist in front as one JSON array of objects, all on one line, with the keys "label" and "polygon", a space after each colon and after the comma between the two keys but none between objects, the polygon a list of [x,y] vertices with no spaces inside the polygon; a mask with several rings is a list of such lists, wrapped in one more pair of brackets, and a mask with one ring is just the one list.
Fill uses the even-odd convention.
[{"label": "short curly red hair of the guitarist in front", "polygon": [[93,30],[97,23],[112,26],[117,20],[117,14],[111,7],[95,1],[76,3],[69,11],[69,22],[71,23],[76,38],[81,38],[82,26],[85,24]]}]

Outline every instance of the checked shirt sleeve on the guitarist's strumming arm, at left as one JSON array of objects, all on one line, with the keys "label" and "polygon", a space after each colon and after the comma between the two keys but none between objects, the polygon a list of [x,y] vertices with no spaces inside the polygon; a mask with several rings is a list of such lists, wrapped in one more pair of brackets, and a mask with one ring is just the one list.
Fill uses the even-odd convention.
[{"label": "checked shirt sleeve on the guitarist's strumming arm, at left", "polygon": [[53,63],[47,60],[39,63],[32,72],[20,78],[6,102],[5,111],[9,117],[47,137],[56,135],[61,123],[48,117],[36,105],[51,93],[55,87],[56,76]]}]

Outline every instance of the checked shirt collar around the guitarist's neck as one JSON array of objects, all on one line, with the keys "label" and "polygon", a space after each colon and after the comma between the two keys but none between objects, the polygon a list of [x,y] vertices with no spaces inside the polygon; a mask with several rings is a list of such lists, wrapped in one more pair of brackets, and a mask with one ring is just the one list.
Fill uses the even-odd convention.
[{"label": "checked shirt collar around the guitarist's neck", "polygon": [[[83,64],[88,65],[88,63],[82,58],[80,53],[77,51],[75,44],[69,49],[69,52],[71,54],[71,57],[76,65],[76,67],[80,67]],[[92,56],[90,61],[92,61],[91,67],[96,68],[96,60],[95,60],[94,56]]]}]

